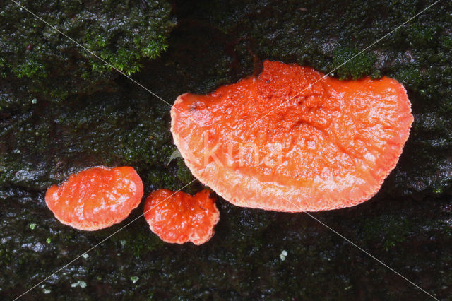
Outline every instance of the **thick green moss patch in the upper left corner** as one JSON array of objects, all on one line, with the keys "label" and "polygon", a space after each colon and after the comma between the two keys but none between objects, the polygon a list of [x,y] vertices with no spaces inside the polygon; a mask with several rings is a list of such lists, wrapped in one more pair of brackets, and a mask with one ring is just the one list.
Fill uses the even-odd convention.
[{"label": "thick green moss patch in the upper left corner", "polygon": [[[143,59],[167,49],[175,25],[166,1],[20,1],[83,47],[129,76]],[[0,75],[23,78],[37,95],[69,95],[115,88],[112,67],[78,47],[12,1],[0,4]]]}]

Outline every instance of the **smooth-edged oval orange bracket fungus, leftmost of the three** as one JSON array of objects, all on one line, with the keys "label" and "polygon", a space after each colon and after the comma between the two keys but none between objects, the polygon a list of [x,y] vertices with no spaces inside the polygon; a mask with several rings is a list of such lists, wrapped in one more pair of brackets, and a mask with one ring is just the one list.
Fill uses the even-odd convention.
[{"label": "smooth-edged oval orange bracket fungus, leftmost of the three", "polygon": [[91,231],[121,222],[142,197],[133,167],[93,167],[47,189],[45,202],[61,223]]}]

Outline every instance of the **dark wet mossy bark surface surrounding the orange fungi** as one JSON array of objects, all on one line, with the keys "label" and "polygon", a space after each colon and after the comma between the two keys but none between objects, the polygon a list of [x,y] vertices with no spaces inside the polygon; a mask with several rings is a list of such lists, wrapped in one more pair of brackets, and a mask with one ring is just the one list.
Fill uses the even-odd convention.
[{"label": "dark wet mossy bark surface surrounding the orange fungi", "polygon": [[[178,25],[167,51],[143,61],[133,78],[172,104],[181,93],[206,93],[258,73],[263,59],[328,73],[432,3],[374,2],[175,1]],[[452,295],[451,14],[451,4],[440,1],[333,72],[396,78],[408,90],[415,122],[396,169],[374,198],[312,213],[441,300]],[[180,158],[167,165],[176,150],[170,106],[127,78],[114,79],[114,92],[58,102],[18,83],[11,77],[0,82],[6,103],[0,110],[2,297],[24,293],[109,235],[23,298],[428,297],[305,213],[238,208],[219,199],[220,222],[201,246],[162,242],[139,217],[143,203],[105,230],[62,225],[45,206],[45,189],[85,167],[131,165],[146,196],[194,178]],[[184,191],[201,187],[194,182]]]}]

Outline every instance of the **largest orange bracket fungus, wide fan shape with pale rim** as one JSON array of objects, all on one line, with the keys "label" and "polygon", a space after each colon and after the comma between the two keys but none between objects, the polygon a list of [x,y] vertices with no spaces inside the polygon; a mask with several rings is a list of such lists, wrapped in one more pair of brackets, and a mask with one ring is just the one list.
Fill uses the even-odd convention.
[{"label": "largest orange bracket fungus, wide fan shape with pale rim", "polygon": [[203,184],[237,206],[288,212],[370,199],[413,121],[394,79],[338,81],[278,61],[208,95],[180,95],[171,117],[174,143]]}]

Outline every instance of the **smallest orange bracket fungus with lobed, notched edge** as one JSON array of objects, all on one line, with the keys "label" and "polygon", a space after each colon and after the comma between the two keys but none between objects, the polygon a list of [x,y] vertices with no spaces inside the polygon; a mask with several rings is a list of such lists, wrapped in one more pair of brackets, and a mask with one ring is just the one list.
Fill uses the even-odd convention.
[{"label": "smallest orange bracket fungus with lobed, notched edge", "polygon": [[167,189],[153,191],[145,201],[144,216],[150,230],[165,242],[203,244],[213,237],[220,212],[210,191],[194,196]]}]

